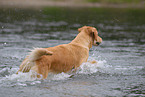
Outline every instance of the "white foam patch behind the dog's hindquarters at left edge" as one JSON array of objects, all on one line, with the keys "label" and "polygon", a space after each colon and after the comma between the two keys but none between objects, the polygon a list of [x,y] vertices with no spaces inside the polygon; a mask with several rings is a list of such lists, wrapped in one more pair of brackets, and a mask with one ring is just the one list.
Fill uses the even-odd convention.
[{"label": "white foam patch behind the dog's hindquarters at left edge", "polygon": [[[5,75],[5,77],[0,78],[0,86],[23,86],[27,85],[35,85],[41,83],[41,80],[36,77],[36,73],[30,71],[28,73],[19,72],[16,74],[18,68],[5,68],[1,71],[8,72],[9,75]],[[32,77],[33,75],[33,77]]]}]

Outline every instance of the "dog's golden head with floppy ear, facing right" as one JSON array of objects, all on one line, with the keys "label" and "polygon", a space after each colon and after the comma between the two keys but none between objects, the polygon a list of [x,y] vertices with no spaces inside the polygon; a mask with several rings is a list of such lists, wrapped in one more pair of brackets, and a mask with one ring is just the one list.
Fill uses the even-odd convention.
[{"label": "dog's golden head with floppy ear, facing right", "polygon": [[90,37],[92,37],[93,45],[95,46],[98,46],[102,42],[102,38],[98,36],[98,32],[94,27],[83,26],[79,28],[78,31],[85,31]]}]

